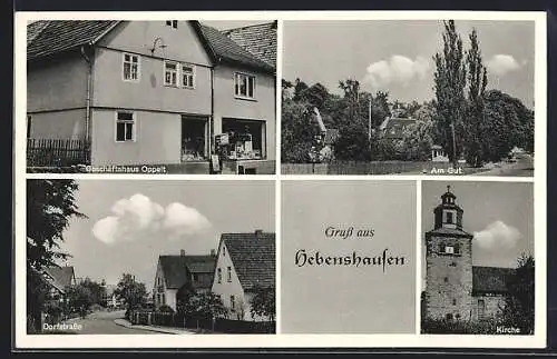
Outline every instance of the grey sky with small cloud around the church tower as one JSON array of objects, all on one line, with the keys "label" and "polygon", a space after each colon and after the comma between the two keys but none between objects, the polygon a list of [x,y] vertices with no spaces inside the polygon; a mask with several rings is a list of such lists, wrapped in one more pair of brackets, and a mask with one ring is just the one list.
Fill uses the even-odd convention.
[{"label": "grey sky with small cloud around the church tower", "polygon": [[[457,196],[456,202],[463,210],[462,229],[475,236],[475,266],[515,268],[522,252],[534,255],[532,183],[422,183],[422,232],[433,229],[433,209],[441,202],[440,197],[447,191],[447,186],[451,186],[451,192]],[[422,246],[422,256],[423,252]],[[422,275],[426,275],[423,267]]]}]

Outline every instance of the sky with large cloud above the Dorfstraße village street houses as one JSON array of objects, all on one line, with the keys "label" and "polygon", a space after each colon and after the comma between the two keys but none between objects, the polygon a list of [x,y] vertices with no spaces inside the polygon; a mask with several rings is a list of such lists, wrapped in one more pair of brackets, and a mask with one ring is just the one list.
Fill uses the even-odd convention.
[{"label": "sky with large cloud above the Dorfstra\u00dfe village street houses", "polygon": [[208,255],[223,232],[274,232],[274,181],[77,180],[61,247],[76,277],[116,285],[124,272],[152,288],[159,255]]}]

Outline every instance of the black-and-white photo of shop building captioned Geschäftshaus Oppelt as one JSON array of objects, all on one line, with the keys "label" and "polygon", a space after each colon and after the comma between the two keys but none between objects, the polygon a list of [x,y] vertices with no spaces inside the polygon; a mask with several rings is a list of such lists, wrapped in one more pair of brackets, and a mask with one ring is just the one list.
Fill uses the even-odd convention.
[{"label": "black-and-white photo of shop building captioned Gesch\u00e4ftshaus Oppelt", "polygon": [[27,169],[275,173],[270,21],[27,26]]}]

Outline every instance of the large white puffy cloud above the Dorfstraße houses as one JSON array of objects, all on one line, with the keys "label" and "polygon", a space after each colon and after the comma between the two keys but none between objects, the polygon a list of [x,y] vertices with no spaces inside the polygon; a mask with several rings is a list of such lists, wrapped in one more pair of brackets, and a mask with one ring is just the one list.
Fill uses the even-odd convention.
[{"label": "large white puffy cloud above the Dorfstra\u00dfe houses", "polygon": [[92,226],[92,235],[111,245],[144,238],[177,239],[204,232],[211,222],[195,208],[174,202],[166,208],[137,193],[120,199],[111,207],[111,216]]}]

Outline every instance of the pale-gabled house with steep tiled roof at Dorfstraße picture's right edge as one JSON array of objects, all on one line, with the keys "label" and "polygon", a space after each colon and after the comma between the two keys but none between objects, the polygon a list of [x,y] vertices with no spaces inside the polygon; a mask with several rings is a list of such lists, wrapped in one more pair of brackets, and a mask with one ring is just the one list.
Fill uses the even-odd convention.
[{"label": "pale-gabled house with steep tiled roof at Dorfstra\u00dfe picture's right edge", "polygon": [[229,319],[268,320],[252,316],[257,287],[275,290],[275,235],[256,230],[223,233],[218,245],[212,291],[228,309]]}]

